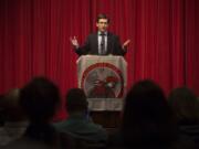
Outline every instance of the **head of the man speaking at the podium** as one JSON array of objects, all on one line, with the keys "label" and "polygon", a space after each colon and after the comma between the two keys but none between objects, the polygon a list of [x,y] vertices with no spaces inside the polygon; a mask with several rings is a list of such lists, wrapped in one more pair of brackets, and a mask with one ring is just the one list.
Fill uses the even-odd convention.
[{"label": "head of the man speaking at the podium", "polygon": [[108,28],[109,19],[106,17],[106,14],[101,13],[97,15],[96,20],[96,26],[100,32],[105,32]]}]

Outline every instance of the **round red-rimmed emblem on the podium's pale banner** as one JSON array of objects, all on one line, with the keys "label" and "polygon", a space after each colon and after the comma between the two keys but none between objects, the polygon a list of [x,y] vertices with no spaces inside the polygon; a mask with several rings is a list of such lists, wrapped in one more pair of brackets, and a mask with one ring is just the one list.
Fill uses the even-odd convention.
[{"label": "round red-rimmed emblem on the podium's pale banner", "polygon": [[83,72],[81,87],[88,98],[119,98],[124,94],[124,78],[115,65],[95,63]]}]

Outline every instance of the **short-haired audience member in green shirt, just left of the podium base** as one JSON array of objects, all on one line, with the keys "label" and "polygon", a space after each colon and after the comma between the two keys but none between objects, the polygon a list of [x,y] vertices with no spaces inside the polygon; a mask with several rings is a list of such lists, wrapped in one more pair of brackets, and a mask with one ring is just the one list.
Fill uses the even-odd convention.
[{"label": "short-haired audience member in green shirt, just left of the podium base", "polygon": [[86,95],[81,88],[72,88],[65,97],[65,108],[69,118],[56,123],[55,127],[61,132],[67,132],[74,138],[85,140],[91,143],[105,145],[107,141],[106,130],[94,124],[88,116],[88,103]]}]

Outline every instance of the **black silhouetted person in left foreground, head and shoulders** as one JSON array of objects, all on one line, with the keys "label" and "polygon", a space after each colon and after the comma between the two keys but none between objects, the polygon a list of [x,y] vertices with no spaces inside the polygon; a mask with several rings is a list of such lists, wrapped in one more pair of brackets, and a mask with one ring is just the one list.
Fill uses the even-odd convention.
[{"label": "black silhouetted person in left foreground, head and shoulders", "polygon": [[20,105],[30,120],[24,136],[6,148],[49,149],[67,147],[50,125],[60,104],[59,88],[45,77],[35,77],[20,91]]}]

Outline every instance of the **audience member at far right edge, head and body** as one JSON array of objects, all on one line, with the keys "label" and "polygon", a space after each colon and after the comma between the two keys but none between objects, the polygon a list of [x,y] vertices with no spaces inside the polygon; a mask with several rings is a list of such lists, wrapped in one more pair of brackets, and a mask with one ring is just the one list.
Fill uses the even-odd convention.
[{"label": "audience member at far right edge, head and body", "polygon": [[199,100],[188,87],[170,92],[168,102],[174,109],[180,132],[190,136],[199,148]]}]

